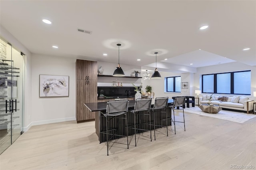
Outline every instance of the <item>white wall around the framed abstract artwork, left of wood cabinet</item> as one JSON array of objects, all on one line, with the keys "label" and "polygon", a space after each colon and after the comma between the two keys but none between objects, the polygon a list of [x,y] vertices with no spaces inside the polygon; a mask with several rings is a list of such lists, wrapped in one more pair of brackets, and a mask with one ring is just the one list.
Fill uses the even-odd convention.
[{"label": "white wall around the framed abstract artwork, left of wood cabinet", "polygon": [[[69,76],[69,97],[39,97],[39,75]],[[75,120],[76,59],[32,54],[32,125]]]}]

